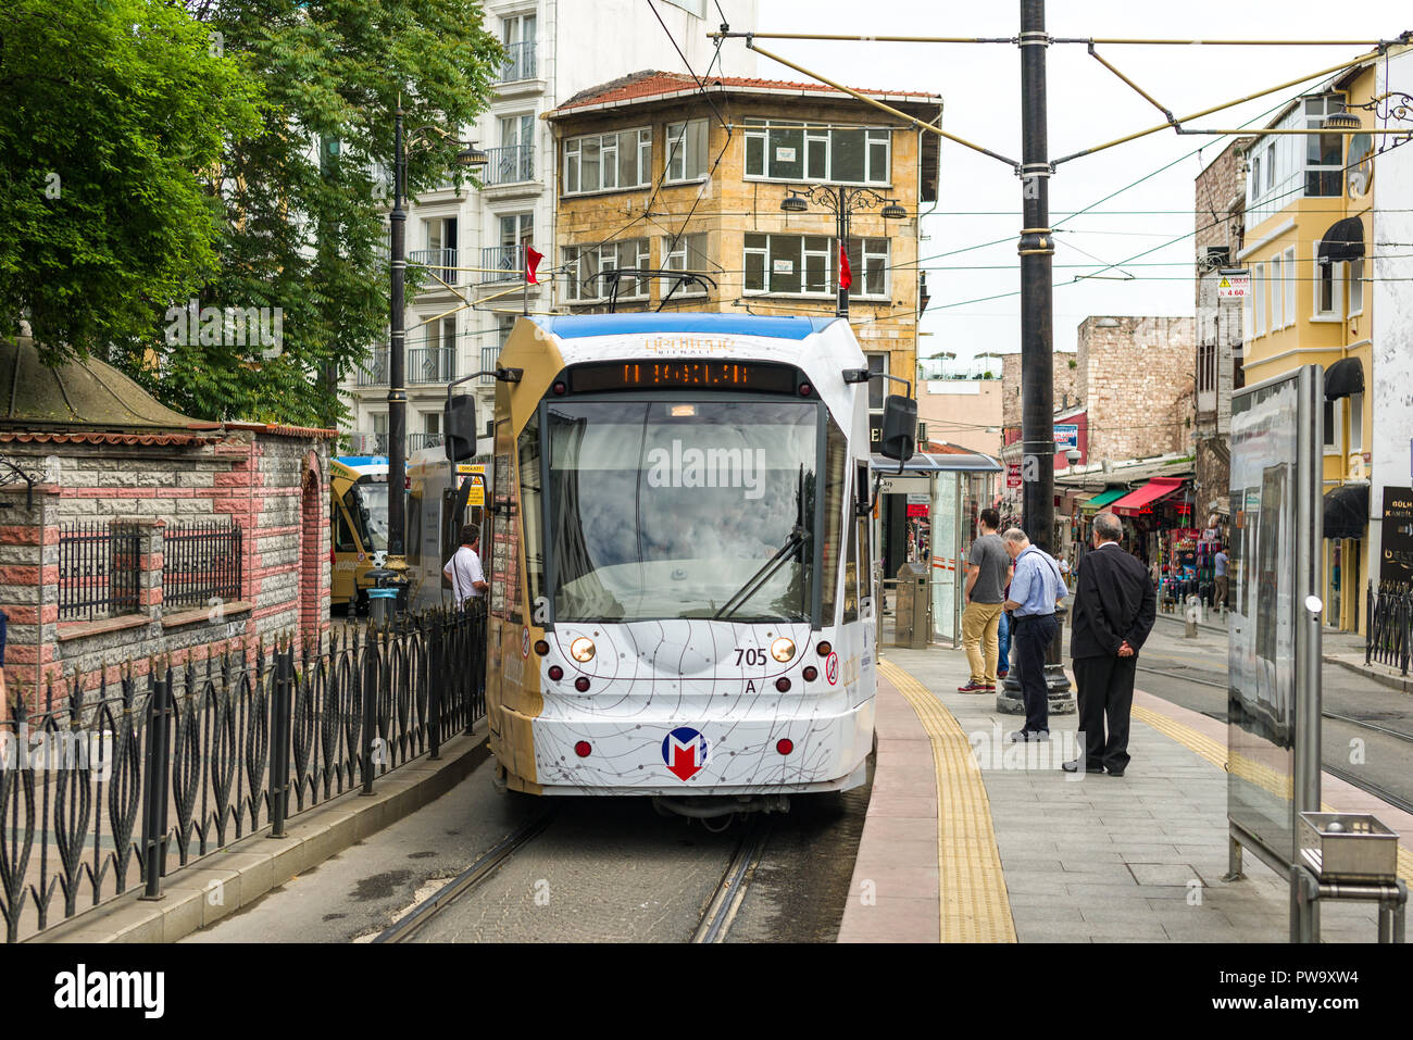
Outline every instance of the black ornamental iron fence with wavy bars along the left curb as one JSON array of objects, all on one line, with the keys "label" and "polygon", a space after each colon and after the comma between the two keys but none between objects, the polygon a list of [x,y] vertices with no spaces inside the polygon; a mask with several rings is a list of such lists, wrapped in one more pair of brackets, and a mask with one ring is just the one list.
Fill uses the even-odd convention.
[{"label": "black ornamental iron fence with wavy bars along the left curb", "polygon": [[[317,647],[226,646],[131,663],[96,690],[51,675],[0,719],[6,941],[102,906],[376,780],[485,715],[483,610],[350,626]],[[81,907],[81,904],[83,904]]]}]

